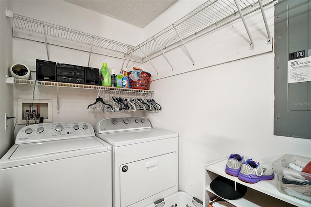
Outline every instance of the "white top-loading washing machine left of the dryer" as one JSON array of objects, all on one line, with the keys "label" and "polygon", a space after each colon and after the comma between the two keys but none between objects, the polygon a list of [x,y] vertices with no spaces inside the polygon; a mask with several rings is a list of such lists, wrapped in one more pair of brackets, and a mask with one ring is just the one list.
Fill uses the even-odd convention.
[{"label": "white top-loading washing machine left of the dryer", "polygon": [[25,126],[0,159],[0,206],[111,207],[111,158],[88,123]]}]

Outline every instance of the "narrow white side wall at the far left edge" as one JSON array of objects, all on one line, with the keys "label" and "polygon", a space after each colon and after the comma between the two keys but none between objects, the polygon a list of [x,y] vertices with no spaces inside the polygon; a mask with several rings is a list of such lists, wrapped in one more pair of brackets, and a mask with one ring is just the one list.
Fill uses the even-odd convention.
[{"label": "narrow white side wall at the far left edge", "polygon": [[5,8],[12,10],[12,1],[0,1],[0,157],[13,144],[13,127],[15,120],[8,120],[5,130],[4,113],[13,117],[13,85],[6,84],[6,76],[10,76],[13,56],[12,19],[5,16]]}]

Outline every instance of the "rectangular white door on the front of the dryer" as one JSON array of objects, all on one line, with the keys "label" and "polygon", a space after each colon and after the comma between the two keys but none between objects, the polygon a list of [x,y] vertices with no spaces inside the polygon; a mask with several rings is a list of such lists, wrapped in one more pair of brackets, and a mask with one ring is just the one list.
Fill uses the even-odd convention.
[{"label": "rectangular white door on the front of the dryer", "polygon": [[127,207],[177,185],[176,153],[120,166],[121,206]]}]

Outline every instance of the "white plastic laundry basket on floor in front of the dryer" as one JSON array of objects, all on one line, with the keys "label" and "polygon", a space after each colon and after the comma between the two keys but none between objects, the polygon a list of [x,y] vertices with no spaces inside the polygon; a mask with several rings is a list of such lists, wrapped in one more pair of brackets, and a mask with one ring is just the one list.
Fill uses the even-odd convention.
[{"label": "white plastic laundry basket on floor in front of the dryer", "polygon": [[178,191],[147,207],[203,207],[203,202],[187,192]]}]

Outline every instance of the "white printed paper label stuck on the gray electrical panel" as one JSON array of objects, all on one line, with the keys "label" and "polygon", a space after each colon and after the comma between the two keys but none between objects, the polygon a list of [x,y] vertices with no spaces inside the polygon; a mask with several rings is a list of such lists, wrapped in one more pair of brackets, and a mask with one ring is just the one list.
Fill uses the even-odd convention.
[{"label": "white printed paper label stuck on the gray electrical panel", "polygon": [[311,56],[288,61],[288,83],[311,81]]}]

